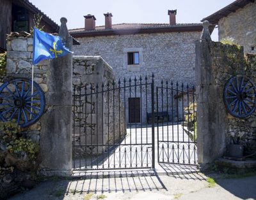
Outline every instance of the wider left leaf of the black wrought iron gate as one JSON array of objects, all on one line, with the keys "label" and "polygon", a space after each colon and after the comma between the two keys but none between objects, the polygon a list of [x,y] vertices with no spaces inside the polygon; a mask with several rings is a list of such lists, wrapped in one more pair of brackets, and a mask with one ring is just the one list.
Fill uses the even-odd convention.
[{"label": "wider left leaf of the black wrought iron gate", "polygon": [[[74,87],[73,168],[75,170],[154,168],[154,76]],[[140,119],[129,100],[140,98]],[[138,110],[136,111],[138,112]]]}]

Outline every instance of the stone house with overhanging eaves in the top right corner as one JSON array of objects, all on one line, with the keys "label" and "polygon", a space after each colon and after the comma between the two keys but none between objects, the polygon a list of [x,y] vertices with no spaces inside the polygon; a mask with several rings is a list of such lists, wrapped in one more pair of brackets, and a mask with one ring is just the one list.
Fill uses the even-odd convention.
[{"label": "stone house with overhanging eaves in the top right corner", "polygon": [[237,0],[222,8],[202,21],[208,20],[218,25],[219,41],[234,38],[244,46],[244,54],[256,53],[256,2],[254,0]]}]

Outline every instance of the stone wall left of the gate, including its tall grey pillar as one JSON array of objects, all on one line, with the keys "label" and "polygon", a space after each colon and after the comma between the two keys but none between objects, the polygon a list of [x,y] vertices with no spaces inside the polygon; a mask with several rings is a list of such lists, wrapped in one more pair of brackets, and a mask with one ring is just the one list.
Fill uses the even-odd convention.
[{"label": "stone wall left of the gate, including its tall grey pillar", "polygon": [[[61,18],[60,38],[72,50],[67,19]],[[33,36],[13,32],[7,38],[6,80],[31,79]],[[34,66],[34,81],[45,95],[42,117],[22,132],[40,146],[40,172],[44,175],[72,173],[72,54],[44,60]],[[35,87],[34,87],[35,89]],[[28,91],[28,90],[27,90]],[[24,117],[26,118],[26,117]],[[51,154],[50,154],[51,153]]]}]

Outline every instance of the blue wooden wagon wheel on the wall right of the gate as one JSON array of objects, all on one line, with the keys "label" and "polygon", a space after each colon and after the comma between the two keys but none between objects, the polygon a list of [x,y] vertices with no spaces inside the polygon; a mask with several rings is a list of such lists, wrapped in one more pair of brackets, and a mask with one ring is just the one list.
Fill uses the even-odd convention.
[{"label": "blue wooden wagon wheel on the wall right of the gate", "polygon": [[228,80],[223,92],[228,112],[237,118],[245,118],[255,111],[256,88],[247,76],[237,75]]}]

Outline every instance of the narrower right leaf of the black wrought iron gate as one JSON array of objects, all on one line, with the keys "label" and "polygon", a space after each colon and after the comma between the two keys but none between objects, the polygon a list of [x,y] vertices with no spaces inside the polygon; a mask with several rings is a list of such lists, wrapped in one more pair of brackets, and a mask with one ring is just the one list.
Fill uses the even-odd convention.
[{"label": "narrower right leaf of the black wrought iron gate", "polygon": [[196,104],[195,89],[182,83],[156,87],[156,113],[167,113],[166,123],[157,120],[157,160],[159,163],[195,165]]}]

